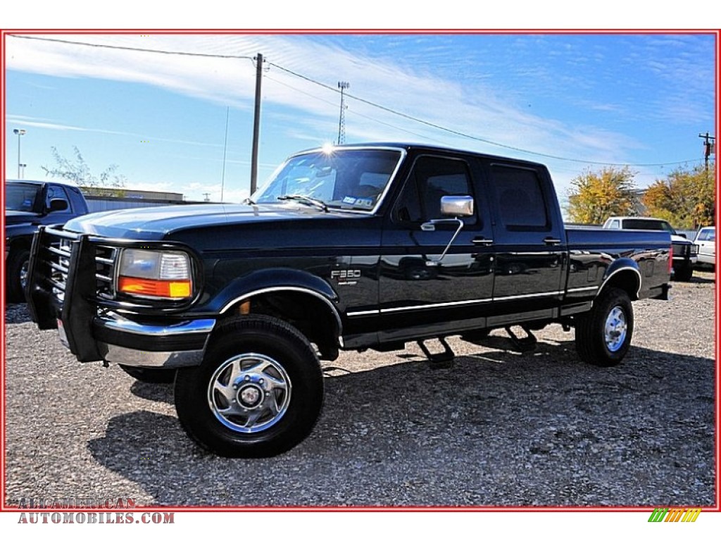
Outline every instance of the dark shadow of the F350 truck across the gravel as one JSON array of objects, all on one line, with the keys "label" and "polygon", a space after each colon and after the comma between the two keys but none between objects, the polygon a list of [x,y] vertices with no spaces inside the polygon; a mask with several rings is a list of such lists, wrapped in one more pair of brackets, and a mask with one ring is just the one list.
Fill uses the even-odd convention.
[{"label": "dark shadow of the F350 truck across the gravel", "polygon": [[[539,346],[446,369],[333,363],[313,434],[280,457],[216,457],[149,411],[88,447],[160,506],[713,504],[713,359],[632,348],[600,369],[572,343]],[[133,393],[172,400],[169,385]]]}]

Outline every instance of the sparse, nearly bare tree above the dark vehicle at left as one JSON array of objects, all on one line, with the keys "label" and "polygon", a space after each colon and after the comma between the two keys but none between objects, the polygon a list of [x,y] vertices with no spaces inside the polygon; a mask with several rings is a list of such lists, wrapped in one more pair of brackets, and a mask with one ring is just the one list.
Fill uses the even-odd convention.
[{"label": "sparse, nearly bare tree above the dark vehicle at left", "polygon": [[71,180],[78,185],[86,195],[107,195],[108,190],[116,197],[122,197],[125,187],[125,176],[116,175],[118,165],[108,166],[100,175],[93,175],[89,165],[85,162],[83,155],[77,146],[73,146],[75,159],[63,157],[55,146],[50,147],[50,152],[55,160],[54,167],[41,166],[46,176],[64,178]]}]

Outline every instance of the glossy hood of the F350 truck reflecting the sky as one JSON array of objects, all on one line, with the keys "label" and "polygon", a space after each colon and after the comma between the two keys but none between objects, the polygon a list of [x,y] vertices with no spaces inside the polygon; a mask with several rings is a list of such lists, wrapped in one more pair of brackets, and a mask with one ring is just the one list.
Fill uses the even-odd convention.
[{"label": "glossy hood of the F350 truck reflecting the sky", "polygon": [[[253,222],[327,219],[334,214],[296,203],[274,205],[187,205],[126,208],[86,214],[68,221],[65,229],[101,237],[162,239],[185,229],[249,224]],[[335,215],[337,216],[337,214]]]}]

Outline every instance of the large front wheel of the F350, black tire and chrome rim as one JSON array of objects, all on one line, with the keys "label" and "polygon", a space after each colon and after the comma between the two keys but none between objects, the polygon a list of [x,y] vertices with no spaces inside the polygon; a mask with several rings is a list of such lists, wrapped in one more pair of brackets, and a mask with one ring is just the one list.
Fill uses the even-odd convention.
[{"label": "large front wheel of the F350, black tire and chrome rim", "polygon": [[175,409],[200,447],[224,457],[272,457],[308,436],[323,403],[323,376],[308,340],[268,316],[216,327],[200,366],[177,371]]}]

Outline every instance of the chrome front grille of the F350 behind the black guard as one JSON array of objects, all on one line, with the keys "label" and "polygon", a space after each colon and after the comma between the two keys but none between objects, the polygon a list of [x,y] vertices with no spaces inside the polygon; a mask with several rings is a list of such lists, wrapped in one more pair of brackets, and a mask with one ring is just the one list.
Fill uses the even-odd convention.
[{"label": "chrome front grille of the F350 behind the black guard", "polygon": [[[46,230],[48,242],[45,245],[43,260],[48,265],[46,285],[51,294],[62,304],[68,281],[68,269],[75,239],[67,234],[60,235]],[[115,299],[115,261],[118,248],[113,246],[92,245],[95,258],[95,291],[98,299]]]}]

